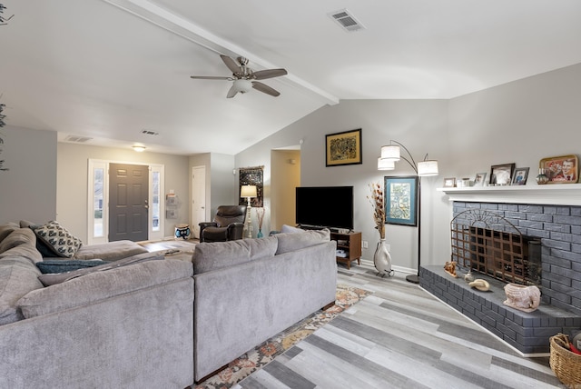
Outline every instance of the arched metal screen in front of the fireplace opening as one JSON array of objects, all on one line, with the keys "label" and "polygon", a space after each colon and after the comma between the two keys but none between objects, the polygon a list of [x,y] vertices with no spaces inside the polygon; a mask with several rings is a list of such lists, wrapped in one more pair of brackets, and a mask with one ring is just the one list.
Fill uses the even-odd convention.
[{"label": "arched metal screen in front of the fireplace opening", "polygon": [[450,229],[452,261],[460,267],[506,283],[540,284],[540,264],[529,260],[529,251],[540,249],[540,242],[520,234],[504,217],[471,209],[457,214]]}]

